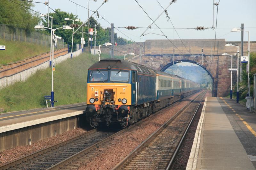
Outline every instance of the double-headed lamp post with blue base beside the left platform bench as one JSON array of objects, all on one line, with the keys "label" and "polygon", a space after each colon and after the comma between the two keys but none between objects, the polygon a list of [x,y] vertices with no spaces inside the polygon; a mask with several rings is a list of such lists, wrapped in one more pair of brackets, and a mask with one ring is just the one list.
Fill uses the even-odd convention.
[{"label": "double-headed lamp post with blue base beside the left platform bench", "polygon": [[[63,28],[63,29],[70,29],[71,27],[70,26],[63,26],[63,27],[59,27],[59,28],[55,28],[55,29],[52,29],[52,28],[48,28],[48,27],[44,27],[43,25],[37,25],[34,27],[35,29],[50,29],[52,31],[52,35],[51,35],[51,39],[53,42],[57,42],[57,38],[58,39],[61,39],[61,37],[58,37],[58,36],[55,36],[54,35],[54,31],[57,30],[57,29],[60,29],[60,28]],[[72,29],[72,28],[71,28]],[[52,91],[51,91],[51,108],[54,107],[54,92],[53,92],[53,71],[55,71],[55,65],[53,63],[53,60],[54,60],[54,43],[52,43]]]}]

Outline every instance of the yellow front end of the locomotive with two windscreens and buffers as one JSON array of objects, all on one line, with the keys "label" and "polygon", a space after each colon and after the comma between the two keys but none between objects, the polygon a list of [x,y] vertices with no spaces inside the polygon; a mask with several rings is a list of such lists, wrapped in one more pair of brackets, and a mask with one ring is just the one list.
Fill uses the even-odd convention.
[{"label": "yellow front end of the locomotive with two windscreens and buffers", "polygon": [[115,60],[101,60],[88,70],[86,119],[92,127],[115,122],[128,125],[132,105],[131,70],[109,61]]}]

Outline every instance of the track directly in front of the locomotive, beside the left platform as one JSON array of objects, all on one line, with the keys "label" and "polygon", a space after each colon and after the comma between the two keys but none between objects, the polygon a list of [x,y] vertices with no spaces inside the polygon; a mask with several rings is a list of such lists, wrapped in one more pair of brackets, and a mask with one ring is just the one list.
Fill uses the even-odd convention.
[{"label": "track directly in front of the locomotive, beside the left platform", "polygon": [[93,129],[67,141],[6,163],[0,166],[0,169],[47,169],[114,133]]}]

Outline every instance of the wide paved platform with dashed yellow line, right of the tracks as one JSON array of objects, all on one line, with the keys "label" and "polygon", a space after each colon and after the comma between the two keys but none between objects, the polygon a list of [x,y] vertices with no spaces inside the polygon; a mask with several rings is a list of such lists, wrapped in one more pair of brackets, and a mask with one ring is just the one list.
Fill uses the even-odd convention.
[{"label": "wide paved platform with dashed yellow line, right of the tracks", "polygon": [[236,100],[206,97],[187,170],[256,167],[256,114]]}]

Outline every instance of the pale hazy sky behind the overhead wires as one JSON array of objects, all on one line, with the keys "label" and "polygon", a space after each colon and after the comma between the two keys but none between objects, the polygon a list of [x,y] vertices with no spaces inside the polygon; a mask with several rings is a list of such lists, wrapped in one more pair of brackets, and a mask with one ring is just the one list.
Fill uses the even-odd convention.
[{"label": "pale hazy sky behind the overhead wires", "polygon": [[[36,2],[45,2],[47,0],[35,0]],[[88,0],[72,0],[88,8]],[[215,2],[219,0],[215,0]],[[66,11],[78,15],[78,18],[85,21],[88,18],[88,10],[70,2],[69,0],[49,0],[49,6],[53,9],[60,8],[61,11]],[[90,10],[95,11],[103,0],[97,2],[90,1]],[[155,20],[159,13],[163,11],[158,2],[166,8],[171,0],[137,0],[148,15]],[[240,32],[230,32],[231,28],[241,27],[244,23],[244,29],[250,31],[250,41],[256,41],[256,0],[220,0],[218,7],[218,20],[216,38],[224,38],[226,41],[240,41]],[[33,8],[41,13],[47,13],[47,6],[44,4],[35,3]],[[51,11],[51,10],[50,10]],[[108,22],[114,23],[115,27],[136,26],[148,27],[152,20],[140,8],[135,0],[108,0],[98,10]],[[52,12],[52,11],[51,11]],[[213,19],[213,0],[177,0],[171,4],[167,9],[168,15],[176,28],[178,34],[172,29],[172,23],[167,21],[165,13],[155,22],[168,39],[214,39],[215,30],[206,29],[204,31],[197,31],[194,29],[197,26],[212,27]],[[92,12],[90,12],[90,15]],[[214,11],[214,26],[216,27],[217,6]],[[95,16],[94,16],[95,18]],[[63,18],[64,19],[64,18]],[[110,25],[103,19],[98,21],[101,26],[110,27]],[[118,28],[115,30],[118,36],[132,41],[143,42],[152,39],[165,39],[156,25],[151,26],[145,36],[140,35],[146,30],[140,28],[136,30],[127,30]],[[154,29],[157,28],[157,29]],[[166,29],[168,28],[168,29]],[[182,29],[180,29],[182,28]],[[185,29],[184,29],[185,28]],[[156,34],[152,34],[156,33]],[[179,35],[179,36],[178,36]],[[244,33],[244,41],[248,41],[248,34]]]}]

